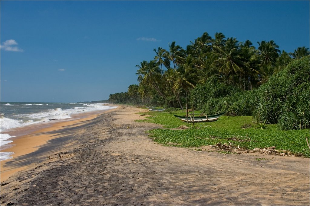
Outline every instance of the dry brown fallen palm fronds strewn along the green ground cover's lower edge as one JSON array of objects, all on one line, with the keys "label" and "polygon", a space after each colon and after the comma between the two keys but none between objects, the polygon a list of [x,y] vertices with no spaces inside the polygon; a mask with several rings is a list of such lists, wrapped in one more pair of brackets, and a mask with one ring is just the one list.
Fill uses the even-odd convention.
[{"label": "dry brown fallen palm fronds strewn along the green ground cover's lower edge", "polygon": [[232,143],[228,142],[229,144],[221,144],[217,143],[216,145],[209,145],[211,148],[216,148],[220,149],[222,151],[224,150],[229,150],[229,151],[243,151],[242,153],[254,153],[258,152],[261,154],[273,154],[273,155],[280,155],[280,156],[292,156],[292,157],[304,157],[303,154],[298,154],[298,153],[293,153],[288,150],[283,150],[283,149],[275,149],[275,146],[272,147],[267,147],[267,148],[255,148],[255,149],[245,149],[241,148],[236,145],[233,145]]}]

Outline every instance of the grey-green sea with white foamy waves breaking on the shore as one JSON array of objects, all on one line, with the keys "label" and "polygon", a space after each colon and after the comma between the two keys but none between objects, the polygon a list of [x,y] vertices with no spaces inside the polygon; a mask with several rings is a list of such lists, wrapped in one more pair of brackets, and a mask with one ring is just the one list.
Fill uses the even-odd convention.
[{"label": "grey-green sea with white foamy waves breaking on the shore", "polygon": [[[116,107],[110,107],[104,103],[0,102],[0,146],[13,142],[12,136],[6,133],[10,129],[67,119],[73,114],[113,108]],[[0,161],[12,158],[11,154],[1,152]]]}]

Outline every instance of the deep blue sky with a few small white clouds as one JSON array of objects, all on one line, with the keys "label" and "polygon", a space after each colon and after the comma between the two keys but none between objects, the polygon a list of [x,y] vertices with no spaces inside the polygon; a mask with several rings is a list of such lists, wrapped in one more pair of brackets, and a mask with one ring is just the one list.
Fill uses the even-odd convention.
[{"label": "deep blue sky with a few small white clouds", "polygon": [[0,1],[0,99],[108,99],[141,61],[203,32],[309,48],[310,1]]}]

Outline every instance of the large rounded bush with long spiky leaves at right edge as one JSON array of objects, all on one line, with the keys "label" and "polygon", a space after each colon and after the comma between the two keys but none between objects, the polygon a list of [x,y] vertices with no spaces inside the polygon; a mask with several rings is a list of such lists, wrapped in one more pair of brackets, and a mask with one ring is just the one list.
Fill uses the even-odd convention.
[{"label": "large rounded bush with long spiky leaves at right edge", "polygon": [[310,58],[290,63],[262,85],[254,119],[281,129],[310,128]]}]

